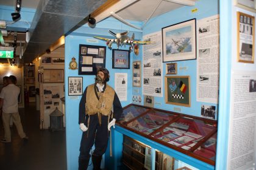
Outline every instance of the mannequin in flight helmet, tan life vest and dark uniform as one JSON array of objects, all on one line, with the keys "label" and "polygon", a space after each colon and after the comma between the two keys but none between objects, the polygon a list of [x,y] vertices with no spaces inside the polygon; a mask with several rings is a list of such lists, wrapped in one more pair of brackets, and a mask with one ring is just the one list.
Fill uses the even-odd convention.
[{"label": "mannequin in flight helmet, tan life vest and dark uniform", "polygon": [[[80,143],[79,170],[88,167],[90,157],[93,169],[101,168],[102,155],[108,144],[110,128],[121,116],[123,108],[115,90],[108,86],[109,72],[98,70],[95,83],[87,86],[79,104],[79,126],[83,131]],[[91,147],[95,146],[92,156]]]}]

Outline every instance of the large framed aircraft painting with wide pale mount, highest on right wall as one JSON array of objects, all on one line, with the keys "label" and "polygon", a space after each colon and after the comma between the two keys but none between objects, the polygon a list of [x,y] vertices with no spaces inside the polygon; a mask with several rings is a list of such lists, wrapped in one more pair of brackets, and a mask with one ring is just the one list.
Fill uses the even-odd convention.
[{"label": "large framed aircraft painting with wide pale mount, highest on right wall", "polygon": [[196,59],[196,19],[162,28],[163,62]]}]

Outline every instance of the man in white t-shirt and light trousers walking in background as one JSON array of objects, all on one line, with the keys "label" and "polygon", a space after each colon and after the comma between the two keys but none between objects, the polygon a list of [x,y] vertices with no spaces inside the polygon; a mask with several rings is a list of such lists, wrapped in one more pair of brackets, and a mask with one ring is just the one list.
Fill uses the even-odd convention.
[{"label": "man in white t-shirt and light trousers walking in background", "polygon": [[28,137],[23,131],[23,126],[21,124],[21,118],[18,111],[18,96],[20,94],[20,87],[16,86],[16,77],[10,75],[8,80],[8,85],[3,87],[0,93],[0,109],[2,108],[2,122],[4,124],[4,136],[5,138],[1,140],[2,143],[11,142],[11,132],[10,132],[10,117],[13,118],[13,122],[17,128],[18,134],[24,140]]}]

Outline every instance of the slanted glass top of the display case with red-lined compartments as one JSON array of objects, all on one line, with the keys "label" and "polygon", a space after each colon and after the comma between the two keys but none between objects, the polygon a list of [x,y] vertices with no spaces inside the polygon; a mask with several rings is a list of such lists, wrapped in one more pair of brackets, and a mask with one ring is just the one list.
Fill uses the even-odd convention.
[{"label": "slanted glass top of the display case with red-lined compartments", "polygon": [[136,104],[124,107],[118,125],[215,165],[217,121]]}]

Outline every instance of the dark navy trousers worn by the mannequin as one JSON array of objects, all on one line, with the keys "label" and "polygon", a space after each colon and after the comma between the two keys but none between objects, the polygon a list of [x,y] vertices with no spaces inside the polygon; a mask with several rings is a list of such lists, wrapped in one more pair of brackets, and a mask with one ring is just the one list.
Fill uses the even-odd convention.
[{"label": "dark navy trousers worn by the mannequin", "polygon": [[82,135],[79,159],[87,160],[90,158],[90,150],[93,144],[95,146],[93,155],[103,155],[107,149],[108,144],[108,116],[102,115],[101,125],[99,125],[98,114],[90,115],[89,126],[87,116],[85,126],[88,127],[88,131],[83,132]]}]

